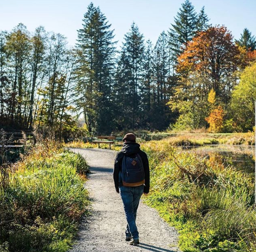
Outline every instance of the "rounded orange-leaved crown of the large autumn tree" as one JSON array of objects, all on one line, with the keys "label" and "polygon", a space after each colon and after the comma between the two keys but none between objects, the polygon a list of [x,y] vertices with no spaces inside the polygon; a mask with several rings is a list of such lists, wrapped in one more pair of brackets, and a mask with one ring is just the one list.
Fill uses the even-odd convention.
[{"label": "rounded orange-leaved crown of the large autumn tree", "polygon": [[210,27],[188,43],[178,57],[177,72],[189,78],[204,97],[214,89],[216,96],[227,102],[235,83],[234,72],[240,64],[239,55],[226,27]]}]

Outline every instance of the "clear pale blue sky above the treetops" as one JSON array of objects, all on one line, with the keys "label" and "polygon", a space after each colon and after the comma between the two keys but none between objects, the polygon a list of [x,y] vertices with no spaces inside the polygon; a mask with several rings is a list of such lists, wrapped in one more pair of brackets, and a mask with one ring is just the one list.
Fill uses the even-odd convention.
[{"label": "clear pale blue sky above the treetops", "polygon": [[[11,31],[22,22],[29,31],[43,25],[76,43],[77,29],[87,6],[100,6],[114,29],[118,45],[134,21],[145,40],[156,42],[162,31],[168,31],[184,0],[0,0],[0,30]],[[225,25],[237,39],[243,28],[256,36],[256,0],[192,0],[197,12],[205,6],[212,25]]]}]

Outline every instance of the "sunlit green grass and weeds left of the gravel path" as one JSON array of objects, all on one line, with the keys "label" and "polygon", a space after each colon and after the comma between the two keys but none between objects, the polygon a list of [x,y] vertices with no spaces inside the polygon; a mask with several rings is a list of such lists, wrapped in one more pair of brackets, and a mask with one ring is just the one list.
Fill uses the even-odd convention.
[{"label": "sunlit green grass and weeds left of the gravel path", "polygon": [[44,141],[13,169],[0,189],[0,251],[67,251],[89,205],[87,163]]}]

